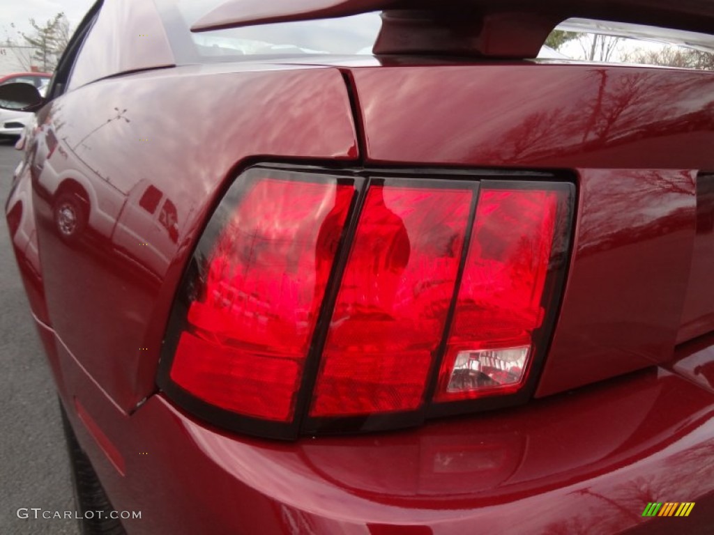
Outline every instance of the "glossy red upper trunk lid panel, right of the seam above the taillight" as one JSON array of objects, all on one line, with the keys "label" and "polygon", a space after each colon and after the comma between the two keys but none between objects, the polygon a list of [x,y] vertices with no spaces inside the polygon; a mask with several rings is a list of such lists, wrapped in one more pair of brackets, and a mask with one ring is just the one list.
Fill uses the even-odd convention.
[{"label": "glossy red upper trunk lid panel, right of the seam above the taillight", "polygon": [[708,73],[526,62],[351,73],[373,163],[714,168]]}]

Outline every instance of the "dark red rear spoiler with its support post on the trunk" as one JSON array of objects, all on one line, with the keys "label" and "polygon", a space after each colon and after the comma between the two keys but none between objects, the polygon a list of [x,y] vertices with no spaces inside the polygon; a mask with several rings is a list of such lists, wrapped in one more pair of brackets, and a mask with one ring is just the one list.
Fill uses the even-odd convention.
[{"label": "dark red rear spoiler with its support post on the trunk", "polygon": [[228,0],[191,31],[383,11],[375,54],[534,58],[565,19],[714,33],[714,0]]}]

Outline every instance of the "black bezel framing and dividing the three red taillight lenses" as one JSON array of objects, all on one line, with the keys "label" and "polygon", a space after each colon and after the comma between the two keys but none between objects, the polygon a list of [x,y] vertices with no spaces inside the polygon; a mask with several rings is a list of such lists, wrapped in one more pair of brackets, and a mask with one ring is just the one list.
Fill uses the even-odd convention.
[{"label": "black bezel framing and dividing the three red taillight lenses", "polygon": [[[178,344],[178,337],[186,327],[186,313],[190,302],[191,281],[196,277],[199,269],[199,258],[211,250],[220,230],[220,225],[226,213],[235,208],[245,194],[248,184],[258,174],[264,175],[266,171],[276,173],[281,177],[292,177],[297,180],[317,180],[325,177],[338,180],[338,183],[354,185],[356,193],[353,197],[348,220],[343,228],[331,275],[328,279],[323,302],[319,307],[318,320],[313,338],[304,363],[301,385],[298,389],[296,407],[291,422],[275,422],[266,419],[249,417],[227,409],[215,407],[193,396],[190,392],[175,384],[169,377],[171,363]],[[563,220],[564,231],[557,235],[553,243],[548,276],[546,277],[543,299],[551,296],[550,302],[545,305],[546,315],[543,324],[533,333],[533,355],[531,356],[530,370],[523,386],[512,394],[498,394],[494,396],[479,397],[459,401],[435,403],[431,399],[436,390],[438,370],[443,358],[446,339],[453,322],[455,300],[448,312],[443,339],[439,345],[436,357],[428,375],[425,397],[421,407],[415,411],[369,414],[365,416],[323,417],[315,418],[308,415],[320,365],[321,353],[326,340],[326,332],[331,319],[333,307],[341,282],[343,270],[346,266],[348,254],[356,231],[356,225],[361,213],[361,208],[366,197],[366,191],[371,183],[380,183],[389,178],[408,178],[409,180],[441,180],[444,187],[461,187],[468,182],[473,188],[471,213],[466,231],[466,244],[468,245],[473,229],[473,218],[478,203],[478,192],[482,185],[488,188],[509,189],[546,189],[563,192],[558,202],[558,218]],[[451,185],[451,186],[450,186]],[[183,271],[178,291],[171,307],[166,337],[161,351],[161,360],[157,374],[159,388],[174,401],[179,407],[196,417],[224,429],[251,434],[257,437],[271,439],[296,439],[301,434],[345,434],[359,432],[375,432],[404,427],[415,427],[423,424],[426,419],[446,417],[456,414],[471,414],[489,409],[510,407],[523,404],[530,399],[540,378],[545,355],[548,352],[552,339],[555,322],[560,312],[560,304],[565,285],[565,274],[570,262],[570,253],[573,240],[573,221],[575,218],[577,190],[573,175],[567,171],[530,171],[530,170],[484,170],[470,168],[433,169],[433,168],[353,168],[345,165],[291,165],[286,163],[259,163],[250,165],[236,174],[228,186],[226,193],[211,213],[206,227],[196,240],[193,252],[188,258],[188,263]],[[228,210],[228,211],[226,211]],[[462,251],[463,258],[456,280],[456,290],[463,274],[464,262],[468,254],[468,246]]]}]

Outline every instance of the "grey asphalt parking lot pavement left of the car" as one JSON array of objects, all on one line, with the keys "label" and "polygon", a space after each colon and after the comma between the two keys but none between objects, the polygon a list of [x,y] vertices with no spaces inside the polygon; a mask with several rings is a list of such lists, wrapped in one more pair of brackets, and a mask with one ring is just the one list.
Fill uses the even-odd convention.
[{"label": "grey asphalt parking lot pavement left of the car", "polygon": [[[20,160],[0,141],[4,208]],[[74,511],[54,384],[0,216],[0,534],[78,534],[72,519],[19,519],[19,508]],[[29,514],[34,514],[29,511]]]}]

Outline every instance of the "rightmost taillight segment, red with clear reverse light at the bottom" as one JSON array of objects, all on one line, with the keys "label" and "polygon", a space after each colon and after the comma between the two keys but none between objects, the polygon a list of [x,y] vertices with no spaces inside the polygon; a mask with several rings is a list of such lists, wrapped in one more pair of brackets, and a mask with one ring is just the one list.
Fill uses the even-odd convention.
[{"label": "rightmost taillight segment, red with clear reverse light at the bottom", "polygon": [[526,378],[558,192],[482,189],[434,399],[516,392]]}]

